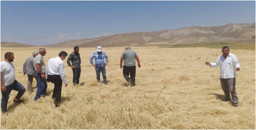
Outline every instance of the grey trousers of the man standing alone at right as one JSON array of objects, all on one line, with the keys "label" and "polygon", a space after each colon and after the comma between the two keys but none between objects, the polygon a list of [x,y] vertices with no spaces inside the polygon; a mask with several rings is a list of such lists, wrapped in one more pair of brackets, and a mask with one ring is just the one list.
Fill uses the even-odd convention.
[{"label": "grey trousers of the man standing alone at right", "polygon": [[[230,101],[230,94],[233,100],[233,105],[238,105],[237,92],[235,91],[235,78],[220,78],[221,88],[225,94],[225,101]],[[229,94],[230,92],[230,94]]]}]

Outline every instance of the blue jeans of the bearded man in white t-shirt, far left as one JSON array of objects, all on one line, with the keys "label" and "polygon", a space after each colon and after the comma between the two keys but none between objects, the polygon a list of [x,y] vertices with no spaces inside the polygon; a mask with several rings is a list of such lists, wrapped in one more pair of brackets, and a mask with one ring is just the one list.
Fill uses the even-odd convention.
[{"label": "blue jeans of the bearded man in white t-shirt, far left", "polygon": [[9,95],[12,90],[18,91],[18,94],[16,95],[16,99],[20,99],[21,96],[25,93],[26,89],[22,86],[21,83],[19,83],[17,80],[15,80],[12,84],[5,86],[6,91],[2,92],[2,100],[1,100],[1,110],[3,113],[7,112],[7,103],[9,99]]}]

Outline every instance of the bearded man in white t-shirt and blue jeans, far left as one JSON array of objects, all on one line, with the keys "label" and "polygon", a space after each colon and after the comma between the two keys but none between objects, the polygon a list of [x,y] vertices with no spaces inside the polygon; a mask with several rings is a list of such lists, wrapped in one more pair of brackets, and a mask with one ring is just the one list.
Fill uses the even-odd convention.
[{"label": "bearded man in white t-shirt and blue jeans, far left", "polygon": [[7,112],[7,103],[9,95],[12,90],[18,91],[18,94],[13,99],[15,103],[23,103],[21,96],[25,93],[26,89],[15,80],[15,68],[12,64],[14,55],[12,52],[6,52],[4,61],[1,62],[1,110],[2,114]]}]

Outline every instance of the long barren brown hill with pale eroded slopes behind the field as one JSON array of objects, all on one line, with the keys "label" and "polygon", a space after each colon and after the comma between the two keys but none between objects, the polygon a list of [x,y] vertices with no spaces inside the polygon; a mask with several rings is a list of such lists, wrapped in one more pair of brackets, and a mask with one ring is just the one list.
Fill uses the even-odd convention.
[{"label": "long barren brown hill with pale eroded slopes behind the field", "polygon": [[176,30],[135,32],[92,39],[70,40],[46,47],[96,47],[125,45],[184,45],[194,43],[255,42],[255,23],[231,23],[224,26],[182,27]]}]

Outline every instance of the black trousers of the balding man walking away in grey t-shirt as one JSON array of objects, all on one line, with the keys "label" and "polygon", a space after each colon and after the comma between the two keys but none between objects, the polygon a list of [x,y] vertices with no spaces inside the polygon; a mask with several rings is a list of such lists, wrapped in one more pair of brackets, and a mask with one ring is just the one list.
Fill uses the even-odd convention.
[{"label": "black trousers of the balding man walking away in grey t-shirt", "polygon": [[[136,75],[136,66],[123,66],[123,75],[126,81],[128,82],[130,79],[132,81],[132,85],[135,86],[135,75]],[[129,77],[129,75],[131,77]]]}]

